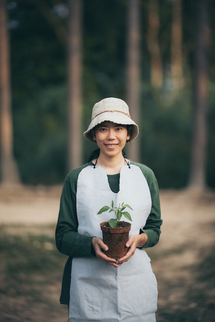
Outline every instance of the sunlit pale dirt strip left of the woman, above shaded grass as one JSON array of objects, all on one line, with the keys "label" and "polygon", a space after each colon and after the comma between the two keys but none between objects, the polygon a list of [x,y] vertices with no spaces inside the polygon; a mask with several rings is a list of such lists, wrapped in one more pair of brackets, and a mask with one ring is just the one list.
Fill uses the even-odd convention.
[{"label": "sunlit pale dirt strip left of the woman, above shaded grass", "polygon": [[0,223],[56,223],[60,194],[61,186],[0,188]]}]

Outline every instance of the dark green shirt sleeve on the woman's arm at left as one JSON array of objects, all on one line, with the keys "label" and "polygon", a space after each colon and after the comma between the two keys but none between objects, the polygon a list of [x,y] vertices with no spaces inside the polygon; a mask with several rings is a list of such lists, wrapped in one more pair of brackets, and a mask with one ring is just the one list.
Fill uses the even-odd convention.
[{"label": "dark green shirt sleeve on the woman's arm at left", "polygon": [[65,179],[59,217],[56,226],[56,246],[62,254],[70,257],[88,257],[92,254],[92,237],[78,233],[76,211],[77,180],[84,166],[71,171]]}]

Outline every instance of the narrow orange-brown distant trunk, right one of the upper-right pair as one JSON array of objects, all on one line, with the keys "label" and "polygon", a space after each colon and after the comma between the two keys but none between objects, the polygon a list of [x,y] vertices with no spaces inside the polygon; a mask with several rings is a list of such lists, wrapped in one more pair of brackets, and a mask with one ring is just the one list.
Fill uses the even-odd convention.
[{"label": "narrow orange-brown distant trunk, right one of the upper-right pair", "polygon": [[182,76],[182,1],[172,1],[172,44],[171,73],[173,88],[177,91],[183,85]]}]

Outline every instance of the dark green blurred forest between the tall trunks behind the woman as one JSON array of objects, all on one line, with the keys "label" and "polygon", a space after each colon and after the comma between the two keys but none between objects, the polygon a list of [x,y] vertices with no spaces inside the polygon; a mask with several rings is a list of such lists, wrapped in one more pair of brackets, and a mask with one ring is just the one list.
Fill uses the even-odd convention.
[{"label": "dark green blurred forest between the tall trunks behind the woman", "polygon": [[[82,164],[96,148],[82,135],[91,119],[94,103],[109,96],[129,101],[129,7],[126,0],[83,0],[81,3],[81,11],[74,19],[79,19],[81,39],[81,102],[76,109],[80,110],[81,118],[78,134],[81,152],[77,153]],[[133,5],[135,3],[136,0]],[[160,188],[189,185],[193,157],[199,3],[202,1],[138,2],[138,160],[154,170]],[[69,2],[61,0],[17,0],[7,1],[6,5],[13,156],[17,172],[23,184],[61,184],[71,170],[68,162],[71,132],[68,122],[70,88],[67,33],[73,12],[69,12]],[[205,68],[207,135],[205,150],[200,148],[200,152],[205,157],[205,184],[214,188],[214,0],[208,3],[207,13],[210,31]],[[173,32],[175,23],[176,33]],[[157,46],[156,66],[153,65],[150,37]],[[204,129],[199,129],[201,131],[204,132]],[[75,151],[73,154],[71,158],[75,156]],[[133,154],[128,154],[128,157],[135,159]]]}]

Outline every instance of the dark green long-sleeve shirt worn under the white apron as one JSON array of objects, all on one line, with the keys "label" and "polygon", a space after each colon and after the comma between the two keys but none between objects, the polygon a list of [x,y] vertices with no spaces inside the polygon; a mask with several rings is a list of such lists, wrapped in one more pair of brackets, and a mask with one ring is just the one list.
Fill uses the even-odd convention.
[{"label": "dark green long-sleeve shirt worn under the white apron", "polygon": [[[153,171],[147,166],[132,161],[130,164],[136,165],[141,169],[150,189],[152,199],[151,212],[145,227],[140,227],[140,233],[145,232],[148,236],[148,241],[142,248],[152,247],[156,245],[159,240],[160,225],[162,225],[162,220],[160,219],[160,202],[157,180]],[[78,175],[82,169],[89,165],[92,165],[92,162],[74,169],[66,176],[61,194],[59,218],[56,227],[56,245],[59,252],[69,256],[63,274],[60,298],[62,304],[69,303],[72,258],[95,256],[95,252],[92,247],[92,239],[94,236],[89,237],[78,233],[78,219],[76,211]],[[108,175],[109,185],[113,192],[119,191],[119,175],[120,174]]]}]

